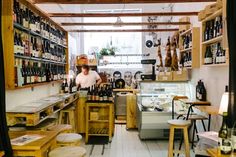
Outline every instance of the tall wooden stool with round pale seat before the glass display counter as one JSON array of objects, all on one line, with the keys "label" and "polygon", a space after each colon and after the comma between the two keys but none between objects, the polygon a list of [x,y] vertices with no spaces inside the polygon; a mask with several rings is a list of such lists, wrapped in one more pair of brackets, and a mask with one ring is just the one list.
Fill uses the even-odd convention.
[{"label": "tall wooden stool with round pale seat before the glass display counter", "polygon": [[182,151],[173,150],[174,147],[174,134],[175,129],[183,129],[184,132],[184,143],[185,143],[185,155],[186,157],[190,157],[189,150],[189,140],[188,140],[188,126],[191,124],[190,121],[186,120],[168,120],[170,124],[170,136],[169,136],[169,148],[168,148],[168,157],[173,157],[173,153],[183,153]]}]

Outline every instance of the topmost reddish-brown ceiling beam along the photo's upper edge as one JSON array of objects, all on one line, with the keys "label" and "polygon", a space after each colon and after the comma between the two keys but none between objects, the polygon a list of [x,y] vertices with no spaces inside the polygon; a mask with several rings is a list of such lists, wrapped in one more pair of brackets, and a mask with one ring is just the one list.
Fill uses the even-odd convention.
[{"label": "topmost reddish-brown ceiling beam along the photo's upper edge", "polygon": [[33,0],[34,3],[57,4],[123,4],[123,3],[187,3],[215,2],[216,0]]}]

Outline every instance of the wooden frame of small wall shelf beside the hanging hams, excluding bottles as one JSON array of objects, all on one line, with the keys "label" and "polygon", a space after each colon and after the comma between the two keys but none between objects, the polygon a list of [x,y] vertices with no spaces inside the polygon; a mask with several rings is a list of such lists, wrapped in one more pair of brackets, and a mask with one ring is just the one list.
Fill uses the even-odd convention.
[{"label": "wooden frame of small wall shelf beside the hanging hams, excluding bottles", "polygon": [[[183,48],[182,43],[183,43],[183,38],[186,35],[192,34],[192,46],[189,48]],[[183,56],[184,53],[191,52],[192,56],[192,65],[190,67],[186,67],[187,69],[192,69],[192,68],[199,68],[200,67],[200,29],[198,27],[193,27],[185,32],[180,34],[179,38],[179,47],[180,47],[180,55]]]}]

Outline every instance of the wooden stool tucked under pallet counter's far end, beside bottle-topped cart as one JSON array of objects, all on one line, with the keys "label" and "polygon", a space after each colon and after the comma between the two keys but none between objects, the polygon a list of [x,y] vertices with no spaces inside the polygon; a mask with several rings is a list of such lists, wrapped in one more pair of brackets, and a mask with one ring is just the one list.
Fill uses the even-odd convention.
[{"label": "wooden stool tucked under pallet counter's far end, beside bottle-topped cart", "polygon": [[72,131],[75,132],[75,107],[61,110],[59,113],[59,124],[70,124],[72,126]]}]

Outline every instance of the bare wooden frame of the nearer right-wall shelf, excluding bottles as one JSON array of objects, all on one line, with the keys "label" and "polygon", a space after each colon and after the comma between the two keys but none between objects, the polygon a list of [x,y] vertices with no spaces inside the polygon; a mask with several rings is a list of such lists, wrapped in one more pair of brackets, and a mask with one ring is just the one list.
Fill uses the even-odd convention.
[{"label": "bare wooden frame of the nearer right-wall shelf, excluding bottles", "polygon": [[[219,67],[219,66],[228,66],[229,65],[229,52],[228,52],[228,41],[227,41],[227,26],[226,26],[226,0],[222,1],[223,8],[218,9],[213,14],[202,19],[201,26],[201,66],[204,67]],[[206,23],[210,20],[214,20],[217,16],[222,16],[222,24],[223,24],[223,34],[217,37],[214,37],[210,40],[204,41],[204,31],[206,28]],[[206,47],[211,46],[213,44],[221,43],[221,47],[225,50],[225,63],[215,64],[213,58],[213,64],[204,64],[204,56],[206,52]],[[213,52],[214,53],[214,52]],[[214,54],[213,54],[214,56]]]}]

